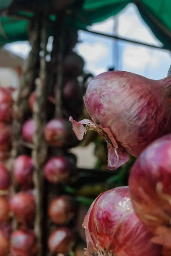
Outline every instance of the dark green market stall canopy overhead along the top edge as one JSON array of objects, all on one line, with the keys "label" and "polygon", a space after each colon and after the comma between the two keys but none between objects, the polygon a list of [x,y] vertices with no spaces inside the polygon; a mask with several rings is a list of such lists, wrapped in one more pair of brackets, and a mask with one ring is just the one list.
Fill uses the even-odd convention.
[{"label": "dark green market stall canopy overhead along the top edge", "polygon": [[[1,26],[0,44],[28,39],[29,19],[32,10],[41,8],[41,3],[49,0],[0,0]],[[75,26],[78,29],[100,22],[116,15],[129,3],[135,3],[140,15],[151,28],[154,35],[166,49],[171,50],[171,2],[170,0],[53,0],[50,19],[54,21],[56,11],[68,4],[68,13],[76,15]],[[63,4],[61,4],[63,3]],[[37,8],[37,9],[38,9]],[[6,10],[5,12],[2,12]],[[20,16],[20,17],[19,17]],[[69,20],[71,16],[69,15]],[[51,30],[52,34],[52,30]]]}]

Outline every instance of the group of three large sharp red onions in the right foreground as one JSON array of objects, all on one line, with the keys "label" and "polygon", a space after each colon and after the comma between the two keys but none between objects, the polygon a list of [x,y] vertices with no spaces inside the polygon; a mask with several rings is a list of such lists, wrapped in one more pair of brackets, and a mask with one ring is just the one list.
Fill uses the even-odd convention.
[{"label": "group of three large sharp red onions in the right foreground", "polygon": [[84,221],[87,254],[171,255],[171,76],[155,81],[124,72],[102,73],[87,87],[92,120],[76,122],[78,140],[87,130],[107,142],[108,169],[138,157],[129,188],[104,192]]}]

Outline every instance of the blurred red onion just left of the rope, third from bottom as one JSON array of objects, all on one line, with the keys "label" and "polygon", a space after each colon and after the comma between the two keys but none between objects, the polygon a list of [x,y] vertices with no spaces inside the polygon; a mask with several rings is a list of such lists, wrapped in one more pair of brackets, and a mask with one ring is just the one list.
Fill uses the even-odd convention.
[{"label": "blurred red onion just left of the rope, third from bottom", "polygon": [[32,175],[33,175],[34,165],[31,157],[27,155],[20,155],[14,161],[14,177],[17,182],[29,188],[32,185]]}]

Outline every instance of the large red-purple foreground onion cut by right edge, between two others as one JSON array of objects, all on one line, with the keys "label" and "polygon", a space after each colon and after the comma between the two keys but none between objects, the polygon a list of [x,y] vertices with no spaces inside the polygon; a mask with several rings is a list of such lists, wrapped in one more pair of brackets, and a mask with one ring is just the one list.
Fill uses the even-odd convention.
[{"label": "large red-purple foreground onion cut by right edge, between two others", "polygon": [[130,195],[140,220],[155,234],[152,241],[171,253],[171,135],[156,140],[134,163]]}]

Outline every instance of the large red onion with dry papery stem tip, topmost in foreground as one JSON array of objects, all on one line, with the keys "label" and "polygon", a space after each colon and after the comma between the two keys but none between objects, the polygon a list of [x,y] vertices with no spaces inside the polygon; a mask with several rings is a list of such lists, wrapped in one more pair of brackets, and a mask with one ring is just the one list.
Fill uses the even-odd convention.
[{"label": "large red onion with dry papery stem tip, topmost in foreground", "polygon": [[[84,103],[92,121],[70,121],[82,140],[93,129],[108,145],[108,168],[117,169],[128,154],[139,156],[152,141],[171,132],[171,76],[151,80],[125,71],[105,72],[87,87]],[[86,128],[83,126],[86,125]]]}]

